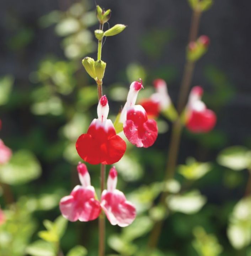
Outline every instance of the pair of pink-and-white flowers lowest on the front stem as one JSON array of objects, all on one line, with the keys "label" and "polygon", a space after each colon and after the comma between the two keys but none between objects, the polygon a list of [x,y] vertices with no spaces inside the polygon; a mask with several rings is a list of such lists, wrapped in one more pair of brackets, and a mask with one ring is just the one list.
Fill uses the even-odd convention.
[{"label": "pair of pink-and-white flowers lowest on the front stem", "polygon": [[79,162],[77,167],[81,186],[76,186],[69,196],[61,199],[59,207],[62,215],[75,222],[87,222],[96,219],[101,209],[105,212],[112,225],[128,226],[136,217],[136,210],[128,202],[123,192],[116,189],[117,171],[112,167],[108,179],[107,190],[101,194],[100,202],[97,200],[95,188],[91,186],[90,175],[85,164]]}]

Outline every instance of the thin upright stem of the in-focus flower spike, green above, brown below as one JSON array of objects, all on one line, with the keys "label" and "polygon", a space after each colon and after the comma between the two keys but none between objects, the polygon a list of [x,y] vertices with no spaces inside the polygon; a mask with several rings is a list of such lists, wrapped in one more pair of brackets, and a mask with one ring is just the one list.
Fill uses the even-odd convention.
[{"label": "thin upright stem of the in-focus flower spike, green above, brown below", "polygon": [[[103,30],[103,25],[100,25],[100,29]],[[102,39],[98,40],[98,54],[97,60],[101,60],[101,50],[102,50]],[[98,101],[103,95],[102,92],[102,80],[97,79],[97,91],[98,91]],[[103,190],[105,189],[105,178],[106,178],[106,165],[101,164],[100,166],[100,198]],[[106,222],[105,214],[101,211],[98,218],[98,256],[105,256],[105,231]]]}]

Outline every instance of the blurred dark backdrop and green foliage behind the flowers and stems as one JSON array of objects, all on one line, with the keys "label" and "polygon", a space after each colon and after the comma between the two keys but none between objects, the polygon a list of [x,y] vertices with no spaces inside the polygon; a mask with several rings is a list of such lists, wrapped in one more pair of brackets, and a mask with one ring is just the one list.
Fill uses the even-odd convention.
[{"label": "blurred dark backdrop and green foliage behind the flowers and stems", "polygon": [[[66,255],[76,245],[97,255],[97,220],[69,223],[66,229],[57,219],[61,231],[54,240],[48,235],[52,230],[38,233],[45,229],[44,219],[60,215],[60,198],[79,183],[75,141],[96,118],[96,85],[81,64],[86,56],[96,59],[96,4],[112,10],[110,27],[128,25],[106,38],[102,48],[110,118],[139,77],[145,88],[139,97],[149,97],[152,81],[162,78],[176,106],[192,16],[187,1],[2,0],[0,138],[13,152],[10,162],[0,165],[2,256]],[[107,255],[148,255],[149,233],[161,219],[166,221],[153,255],[251,255],[251,198],[245,194],[251,158],[250,7],[221,0],[203,12],[199,35],[209,36],[210,46],[196,63],[191,86],[203,87],[203,101],[217,114],[217,125],[207,134],[184,129],[178,164],[191,175],[177,167],[165,213],[154,206],[172,123],[158,119],[160,133],[149,149],[128,144],[116,165],[118,188],[137,205],[138,218],[123,230],[107,223]],[[87,167],[98,188],[99,166]],[[60,239],[61,249],[55,249]],[[87,255],[81,246],[82,254],[73,255]]]}]

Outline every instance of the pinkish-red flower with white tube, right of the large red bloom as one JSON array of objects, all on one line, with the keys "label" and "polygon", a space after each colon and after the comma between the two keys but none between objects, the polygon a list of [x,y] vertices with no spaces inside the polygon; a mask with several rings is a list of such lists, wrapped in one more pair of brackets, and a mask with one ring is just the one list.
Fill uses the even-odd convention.
[{"label": "pinkish-red flower with white tube, right of the large red bloom", "polygon": [[157,135],[157,123],[148,119],[145,109],[135,105],[138,92],[143,88],[142,81],[132,82],[127,96],[127,102],[121,112],[124,134],[133,145],[148,148],[153,145]]}]

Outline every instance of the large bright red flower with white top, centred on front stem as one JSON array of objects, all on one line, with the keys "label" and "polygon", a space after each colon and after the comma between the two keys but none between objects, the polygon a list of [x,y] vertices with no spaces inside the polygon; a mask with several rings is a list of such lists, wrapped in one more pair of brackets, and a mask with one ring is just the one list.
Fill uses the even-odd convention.
[{"label": "large bright red flower with white top, centred on front stem", "polygon": [[97,107],[98,119],[91,122],[86,134],[76,142],[79,156],[89,164],[114,164],[126,151],[126,143],[116,135],[113,123],[107,119],[109,106],[102,96]]}]

